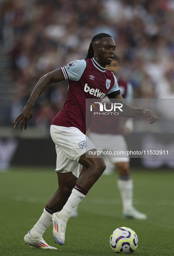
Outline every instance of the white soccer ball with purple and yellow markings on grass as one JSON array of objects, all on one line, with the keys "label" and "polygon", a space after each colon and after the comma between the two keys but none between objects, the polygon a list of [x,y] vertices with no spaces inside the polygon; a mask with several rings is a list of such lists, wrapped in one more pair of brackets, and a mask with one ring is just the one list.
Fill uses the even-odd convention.
[{"label": "white soccer ball with purple and yellow markings on grass", "polygon": [[132,253],[137,249],[138,237],[130,228],[117,228],[111,234],[110,246],[116,253]]}]

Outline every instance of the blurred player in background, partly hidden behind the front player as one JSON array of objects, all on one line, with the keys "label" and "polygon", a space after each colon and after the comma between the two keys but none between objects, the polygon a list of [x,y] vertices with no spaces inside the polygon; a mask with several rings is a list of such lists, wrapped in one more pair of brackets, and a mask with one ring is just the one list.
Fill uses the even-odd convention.
[{"label": "blurred player in background, partly hidden behind the front player", "polygon": [[[107,65],[107,69],[116,76],[122,97],[124,99],[132,99],[133,88],[131,83],[127,83],[118,77],[120,58],[114,55],[112,63]],[[106,97],[102,102],[108,101],[108,99],[105,99]],[[107,109],[109,109],[109,106]],[[104,120],[107,124],[107,128],[103,125]],[[123,121],[124,124],[122,125],[120,121]],[[122,133],[130,133],[132,130],[132,119],[123,118],[123,120],[121,120],[120,116],[96,115],[95,119],[92,119],[88,136],[98,151],[125,151],[127,150],[127,144]],[[104,160],[106,164],[104,174],[111,173],[113,165],[119,173],[117,186],[122,199],[123,216],[125,218],[147,219],[146,214],[140,213],[133,207],[133,181],[130,175],[130,159],[128,157],[105,157]],[[74,209],[71,216],[78,216],[77,207]]]}]

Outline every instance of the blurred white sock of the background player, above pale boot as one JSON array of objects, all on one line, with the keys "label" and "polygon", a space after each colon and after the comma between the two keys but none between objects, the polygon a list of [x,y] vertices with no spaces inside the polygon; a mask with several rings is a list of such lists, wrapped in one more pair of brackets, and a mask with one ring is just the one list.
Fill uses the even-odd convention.
[{"label": "blurred white sock of the background player, above pale boot", "polygon": [[117,180],[117,186],[120,191],[123,212],[133,207],[133,181],[130,176],[121,176]]}]

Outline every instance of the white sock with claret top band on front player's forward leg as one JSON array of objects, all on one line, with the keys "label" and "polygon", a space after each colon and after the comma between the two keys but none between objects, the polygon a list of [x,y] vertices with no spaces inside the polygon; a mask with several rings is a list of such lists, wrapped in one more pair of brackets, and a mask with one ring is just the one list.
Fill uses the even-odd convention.
[{"label": "white sock with claret top band on front player's forward leg", "polygon": [[72,193],[68,198],[67,203],[64,205],[63,209],[59,212],[59,218],[64,218],[68,221],[73,209],[82,201],[82,199],[88,193],[84,188],[76,185],[72,189]]}]

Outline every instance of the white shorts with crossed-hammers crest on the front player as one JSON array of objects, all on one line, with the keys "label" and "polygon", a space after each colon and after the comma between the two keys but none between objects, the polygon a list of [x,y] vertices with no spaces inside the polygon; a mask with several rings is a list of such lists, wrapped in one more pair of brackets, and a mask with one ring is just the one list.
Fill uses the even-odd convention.
[{"label": "white shorts with crossed-hammers crest on the front player", "polygon": [[76,127],[51,125],[50,134],[56,145],[56,173],[72,172],[77,178],[82,170],[81,155],[95,148],[89,138]]}]

